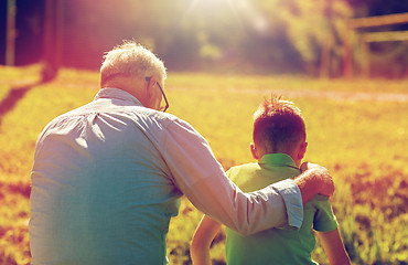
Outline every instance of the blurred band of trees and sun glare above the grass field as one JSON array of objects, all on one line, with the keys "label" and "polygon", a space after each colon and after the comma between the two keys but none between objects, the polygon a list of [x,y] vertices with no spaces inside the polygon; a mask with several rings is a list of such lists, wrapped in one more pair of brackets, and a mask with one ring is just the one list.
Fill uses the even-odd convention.
[{"label": "blurred band of trees and sun glare above the grass field", "polygon": [[0,64],[98,70],[135,39],[169,71],[404,78],[407,12],[404,0],[1,0]]}]

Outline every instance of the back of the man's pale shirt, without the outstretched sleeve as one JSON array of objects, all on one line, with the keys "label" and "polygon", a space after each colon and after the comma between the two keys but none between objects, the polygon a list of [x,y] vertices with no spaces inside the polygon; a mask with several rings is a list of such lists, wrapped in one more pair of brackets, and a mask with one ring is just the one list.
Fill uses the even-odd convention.
[{"label": "back of the man's pale shirt, without the outstretched sleeve", "polygon": [[54,119],[40,136],[33,265],[165,263],[165,234],[181,193],[154,145],[153,110],[128,99],[98,98]]}]

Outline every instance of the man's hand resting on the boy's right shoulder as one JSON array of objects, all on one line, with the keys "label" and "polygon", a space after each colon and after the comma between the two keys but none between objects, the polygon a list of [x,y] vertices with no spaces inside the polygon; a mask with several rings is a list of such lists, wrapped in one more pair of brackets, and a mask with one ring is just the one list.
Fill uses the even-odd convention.
[{"label": "man's hand resting on the boy's right shoulder", "polygon": [[315,194],[331,197],[334,192],[333,179],[328,169],[310,162],[304,162],[300,167],[302,174],[294,182],[302,193],[303,203],[307,203]]}]

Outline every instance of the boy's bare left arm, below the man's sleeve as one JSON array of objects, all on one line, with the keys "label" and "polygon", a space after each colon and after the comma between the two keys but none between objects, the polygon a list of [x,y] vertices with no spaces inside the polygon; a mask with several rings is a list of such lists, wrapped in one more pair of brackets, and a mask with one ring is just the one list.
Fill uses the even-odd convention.
[{"label": "boy's bare left arm, below the man's sleeve", "polygon": [[211,265],[210,246],[215,235],[218,233],[221,223],[207,215],[201,220],[193,241],[191,242],[190,255],[194,265]]}]

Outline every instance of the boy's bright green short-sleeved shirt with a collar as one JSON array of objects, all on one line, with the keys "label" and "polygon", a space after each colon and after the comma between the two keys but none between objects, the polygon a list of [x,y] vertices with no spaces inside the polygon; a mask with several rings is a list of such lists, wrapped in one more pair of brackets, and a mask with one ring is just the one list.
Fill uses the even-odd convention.
[{"label": "boy's bright green short-sleeved shirt with a collar", "polygon": [[[284,153],[266,155],[258,163],[246,163],[227,171],[230,180],[245,192],[299,174],[292,158]],[[337,222],[326,197],[314,197],[303,206],[303,212],[300,230],[284,226],[241,236],[226,229],[227,264],[316,264],[311,258],[315,246],[312,230],[333,231]]]}]

